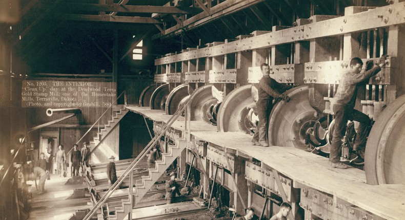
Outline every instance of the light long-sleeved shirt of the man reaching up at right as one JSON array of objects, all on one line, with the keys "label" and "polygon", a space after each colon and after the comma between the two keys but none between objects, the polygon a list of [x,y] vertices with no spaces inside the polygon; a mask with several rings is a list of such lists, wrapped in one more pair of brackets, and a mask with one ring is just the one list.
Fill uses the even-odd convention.
[{"label": "light long-sleeved shirt of the man reaching up at right", "polygon": [[376,65],[374,68],[365,71],[364,73],[355,74],[348,71],[343,74],[340,77],[340,83],[337,86],[336,94],[334,96],[336,104],[346,105],[347,107],[353,108],[356,104],[357,83],[369,79],[380,72],[380,70],[381,68],[379,65]]}]

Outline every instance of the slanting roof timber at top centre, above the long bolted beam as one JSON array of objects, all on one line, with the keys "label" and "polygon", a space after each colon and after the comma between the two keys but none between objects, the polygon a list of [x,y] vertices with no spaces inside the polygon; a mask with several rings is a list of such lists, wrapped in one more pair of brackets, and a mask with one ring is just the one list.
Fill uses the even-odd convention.
[{"label": "slanting roof timber at top centre, above the long bolted beam", "polygon": [[243,9],[249,8],[252,5],[256,5],[265,0],[226,0],[211,8],[211,16],[205,12],[201,12],[185,21],[182,25],[175,25],[165,31],[165,34],[156,34],[152,36],[152,39],[166,38],[172,35],[177,35],[181,33],[181,29],[186,28],[191,30],[200,26],[203,26],[213,20],[220,17],[241,11]]}]

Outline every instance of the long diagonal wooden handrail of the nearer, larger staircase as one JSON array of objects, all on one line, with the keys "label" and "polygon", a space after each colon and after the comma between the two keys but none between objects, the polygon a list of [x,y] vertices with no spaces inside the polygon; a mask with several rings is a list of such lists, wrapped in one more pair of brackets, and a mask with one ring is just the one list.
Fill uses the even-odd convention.
[{"label": "long diagonal wooden handrail of the nearer, larger staircase", "polygon": [[[186,103],[183,106],[180,106],[180,108],[177,109],[177,111],[174,113],[174,115],[168,120],[168,122],[158,131],[158,133],[155,135],[155,137],[152,138],[152,140],[148,143],[148,145],[139,153],[139,155],[135,158],[135,160],[127,167],[127,169],[124,171],[124,173],[118,178],[118,180],[110,187],[110,189],[107,191],[106,194],[97,202],[95,206],[87,213],[87,215],[83,218],[84,220],[89,220],[95,212],[102,207],[109,197],[112,195],[112,193],[121,185],[125,178],[129,176],[130,173],[133,173],[133,169],[138,165],[138,163],[141,161],[142,158],[144,158],[147,153],[154,147],[157,143],[158,140],[166,133],[166,131],[171,127],[171,125],[177,120],[177,118],[181,115],[183,111],[190,105],[191,99],[188,99]],[[132,177],[133,178],[133,175]],[[131,181],[132,182],[132,181]],[[129,186],[129,196],[130,200],[132,201],[132,186]],[[133,202],[133,201],[132,201]],[[131,202],[131,203],[132,203]]]}]

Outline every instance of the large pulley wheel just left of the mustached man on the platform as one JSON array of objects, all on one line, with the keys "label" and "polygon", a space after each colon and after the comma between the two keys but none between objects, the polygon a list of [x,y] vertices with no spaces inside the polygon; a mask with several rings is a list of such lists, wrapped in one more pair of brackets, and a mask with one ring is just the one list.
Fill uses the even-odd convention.
[{"label": "large pulley wheel just left of the mustached man on the platform", "polygon": [[253,122],[249,112],[255,102],[252,98],[252,85],[243,85],[230,92],[221,103],[218,112],[218,131],[240,131],[250,134]]}]

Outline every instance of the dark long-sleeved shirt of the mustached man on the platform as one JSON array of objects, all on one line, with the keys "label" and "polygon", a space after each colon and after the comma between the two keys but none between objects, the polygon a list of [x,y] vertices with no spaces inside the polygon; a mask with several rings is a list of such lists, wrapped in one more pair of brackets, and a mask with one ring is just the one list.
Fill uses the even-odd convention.
[{"label": "dark long-sleeved shirt of the mustached man on the platform", "polygon": [[281,93],[291,89],[292,86],[283,85],[272,79],[270,76],[263,76],[259,81],[257,88],[259,92],[259,100],[273,100]]}]

